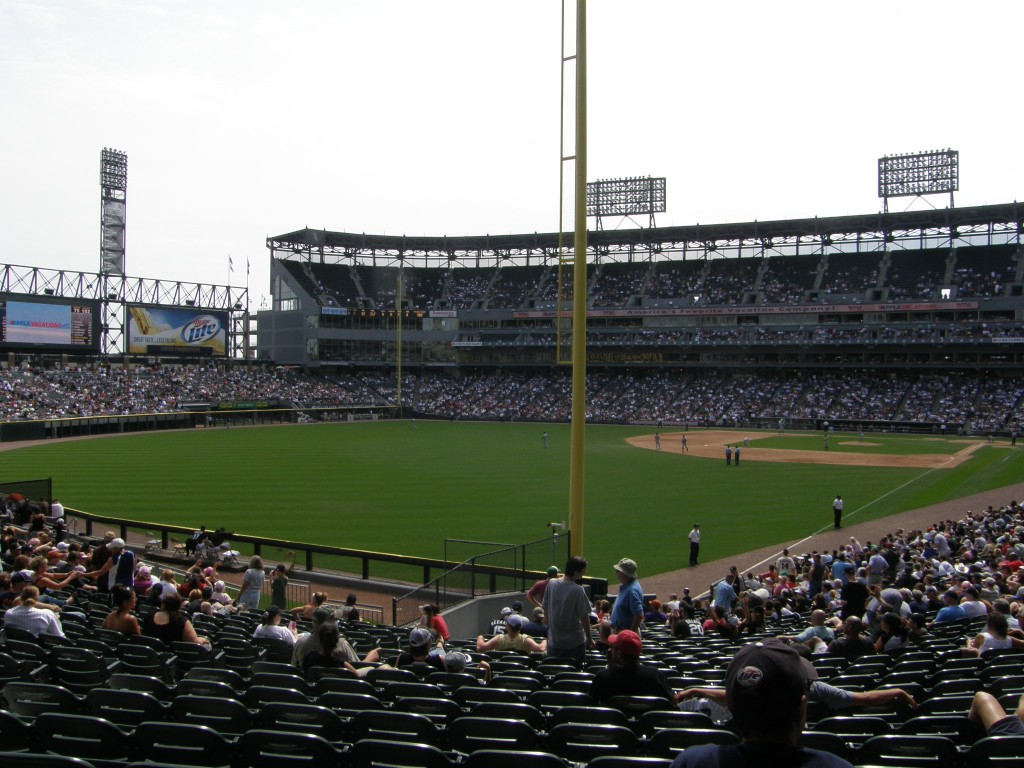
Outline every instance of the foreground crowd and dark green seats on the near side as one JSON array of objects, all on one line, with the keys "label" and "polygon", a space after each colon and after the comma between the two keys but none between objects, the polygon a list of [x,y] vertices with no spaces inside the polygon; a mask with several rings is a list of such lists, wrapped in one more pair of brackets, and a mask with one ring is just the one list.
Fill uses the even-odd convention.
[{"label": "foreground crowd and dark green seats on the near side", "polygon": [[[644,594],[628,557],[613,566],[617,595],[591,601],[574,581],[587,562],[571,557],[475,638],[455,636],[430,604],[412,628],[360,622],[354,596],[340,606],[312,593],[290,609],[272,586],[247,607],[202,559],[157,582],[113,534],[69,538],[47,502],[3,501],[0,752],[190,764],[185,751],[211,743],[195,726],[215,725],[240,765],[256,764],[252,742],[280,756],[296,731],[331,765],[381,738],[394,760],[411,734],[420,743],[402,757],[416,765],[456,765],[422,743],[487,765],[498,757],[482,751],[509,739],[595,766],[611,754],[756,766],[766,750],[834,768],[1024,760],[1024,737],[986,738],[1024,736],[1016,501],[831,550],[784,549],[760,572],[733,566],[707,595],[685,588],[664,601]],[[265,575],[258,557],[250,569]],[[287,583],[287,568],[269,578]],[[557,647],[565,590],[583,595],[569,613],[581,612],[578,649]],[[168,741],[167,721],[183,725],[158,745],[148,736]]]}]

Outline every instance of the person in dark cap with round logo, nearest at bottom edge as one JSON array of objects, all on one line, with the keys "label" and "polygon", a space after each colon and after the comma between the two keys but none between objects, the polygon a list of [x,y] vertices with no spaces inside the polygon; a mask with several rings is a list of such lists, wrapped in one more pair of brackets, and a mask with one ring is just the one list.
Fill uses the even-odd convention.
[{"label": "person in dark cap with round logo, nearest at bottom edge", "polygon": [[842,758],[798,745],[817,677],[810,662],[778,640],[740,648],[725,673],[725,695],[741,743],[687,748],[672,768],[850,768]]}]

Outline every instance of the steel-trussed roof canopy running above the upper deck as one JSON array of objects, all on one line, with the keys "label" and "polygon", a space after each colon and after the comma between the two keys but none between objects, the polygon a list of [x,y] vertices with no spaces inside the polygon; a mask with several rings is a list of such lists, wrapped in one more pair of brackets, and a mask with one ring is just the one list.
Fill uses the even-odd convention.
[{"label": "steel-trussed roof canopy running above the upper deck", "polygon": [[[869,251],[900,243],[950,247],[965,243],[1019,242],[1024,205],[1014,203],[871,213],[825,218],[781,219],[728,224],[691,224],[590,231],[596,261],[642,261],[662,254],[693,258],[764,256],[833,251]],[[563,252],[572,244],[562,236]],[[927,245],[926,245],[927,244]],[[267,238],[271,256],[321,263],[393,266],[484,266],[546,263],[558,257],[557,232],[466,237],[390,236],[298,229]]]}]

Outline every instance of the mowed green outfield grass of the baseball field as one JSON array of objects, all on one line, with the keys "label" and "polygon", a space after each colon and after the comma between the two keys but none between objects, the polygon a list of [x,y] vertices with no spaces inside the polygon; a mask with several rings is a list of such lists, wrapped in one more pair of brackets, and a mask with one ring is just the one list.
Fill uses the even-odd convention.
[{"label": "mowed green outfield grass of the baseball field", "polygon": [[[836,494],[849,521],[859,522],[1008,485],[1024,473],[1024,455],[1005,446],[983,446],[955,469],[924,470],[727,467],[680,456],[675,439],[663,452],[626,442],[651,432],[587,429],[584,551],[595,574],[623,556],[645,573],[685,565],[693,522],[703,531],[702,559],[712,560],[829,526]],[[691,441],[698,435],[692,430]],[[804,449],[820,439],[759,444]],[[856,435],[836,434],[829,447]],[[439,557],[445,537],[522,543],[564,520],[568,441],[563,424],[421,420],[415,429],[379,422],[144,433],[27,446],[0,462],[4,478],[52,476],[67,506],[97,514]],[[909,454],[963,447],[912,437],[886,437],[884,445]]]}]

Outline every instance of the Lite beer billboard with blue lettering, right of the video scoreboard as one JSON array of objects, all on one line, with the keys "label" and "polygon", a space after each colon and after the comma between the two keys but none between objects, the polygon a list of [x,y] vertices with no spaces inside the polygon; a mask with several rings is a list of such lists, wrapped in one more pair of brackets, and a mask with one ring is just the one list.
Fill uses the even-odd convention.
[{"label": "Lite beer billboard with blue lettering, right of the video scoreboard", "polygon": [[227,312],[216,309],[130,305],[128,353],[223,357],[227,324]]}]

